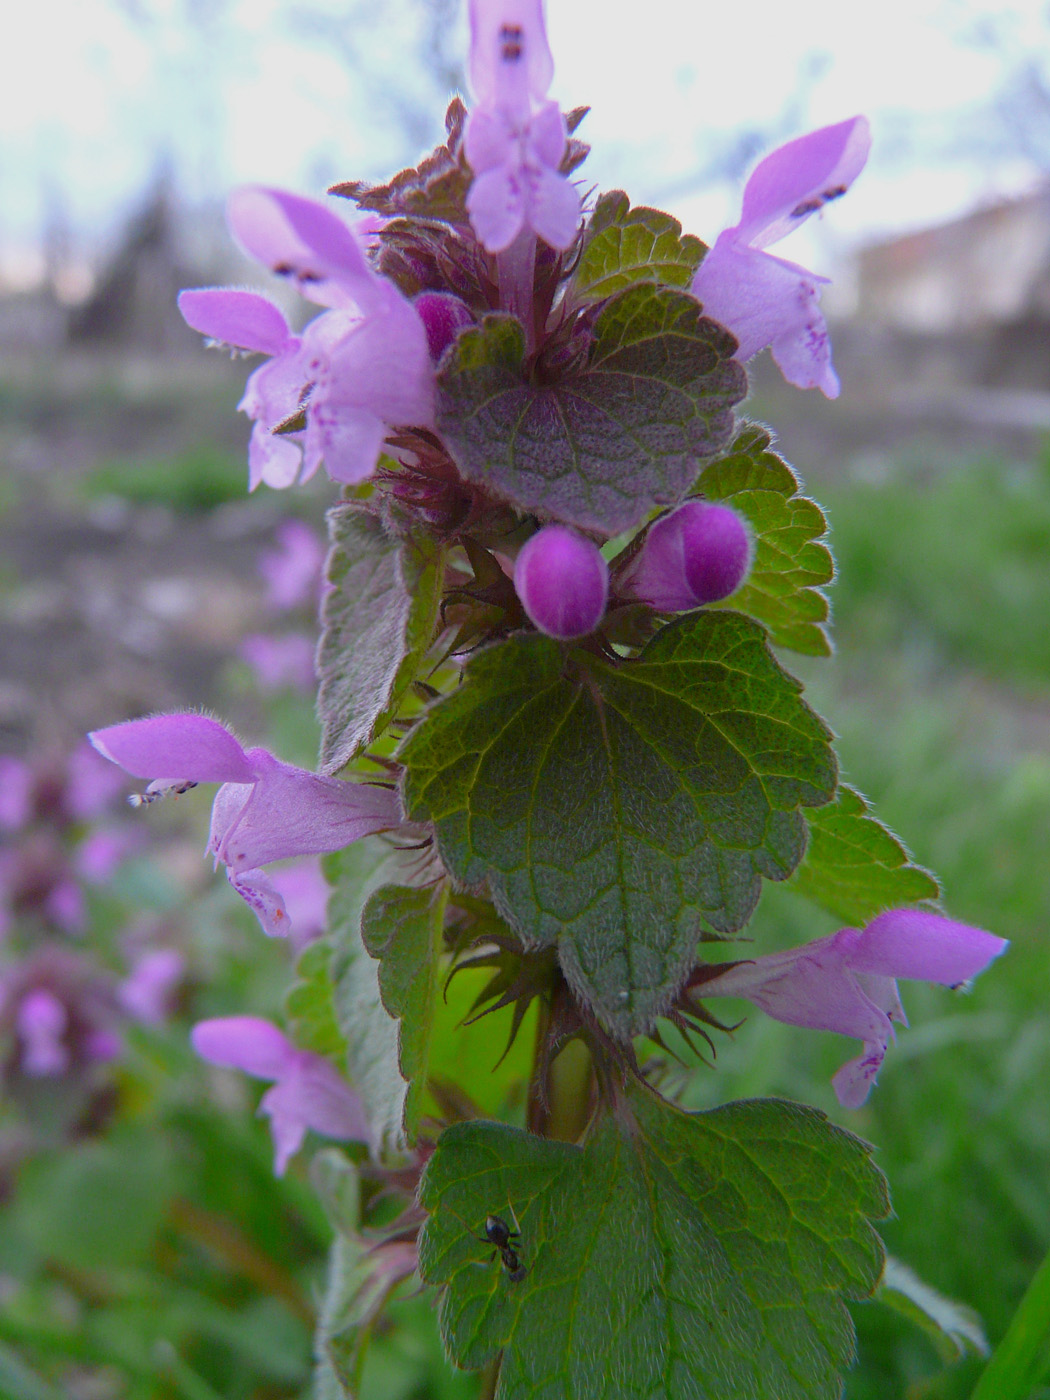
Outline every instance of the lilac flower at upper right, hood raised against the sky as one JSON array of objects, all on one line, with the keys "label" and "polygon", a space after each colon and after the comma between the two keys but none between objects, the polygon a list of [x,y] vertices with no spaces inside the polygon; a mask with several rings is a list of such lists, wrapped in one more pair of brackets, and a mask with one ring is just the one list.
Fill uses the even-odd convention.
[{"label": "lilac flower at upper right, hood raised against the sky", "polygon": [[743,190],[741,221],[721,232],[697,269],[693,294],[738,339],[739,360],[769,346],[788,384],[839,395],[818,277],[763,252],[839,199],[864,169],[865,116],[799,136],[767,155]]}]

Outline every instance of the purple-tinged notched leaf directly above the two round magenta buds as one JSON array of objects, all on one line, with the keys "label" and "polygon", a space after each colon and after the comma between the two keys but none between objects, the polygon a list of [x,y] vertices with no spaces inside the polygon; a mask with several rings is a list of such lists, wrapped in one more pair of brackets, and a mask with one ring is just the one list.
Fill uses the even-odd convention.
[{"label": "purple-tinged notched leaf directly above the two round magenta buds", "polygon": [[732,433],[736,342],[693,297],[627,287],[598,312],[582,368],[531,382],[514,316],[465,330],[438,375],[438,427],[461,472],[522,511],[608,535],[680,500]]}]

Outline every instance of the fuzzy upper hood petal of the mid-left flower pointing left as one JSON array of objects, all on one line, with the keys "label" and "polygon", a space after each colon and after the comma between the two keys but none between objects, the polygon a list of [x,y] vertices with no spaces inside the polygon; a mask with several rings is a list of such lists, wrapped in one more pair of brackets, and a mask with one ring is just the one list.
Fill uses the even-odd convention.
[{"label": "fuzzy upper hood petal of the mid-left flower pointing left", "polygon": [[253,783],[255,770],[232,734],[203,714],[155,714],[88,735],[102,757],[139,778]]}]

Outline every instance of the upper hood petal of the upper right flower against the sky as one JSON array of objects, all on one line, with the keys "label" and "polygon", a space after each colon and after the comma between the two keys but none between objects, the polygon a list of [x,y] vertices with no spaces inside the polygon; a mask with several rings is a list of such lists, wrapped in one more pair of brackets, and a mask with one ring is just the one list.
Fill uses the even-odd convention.
[{"label": "upper hood petal of the upper right flower against the sky", "polygon": [[799,136],[755,167],[743,190],[736,239],[767,248],[853,185],[871,150],[867,116]]}]

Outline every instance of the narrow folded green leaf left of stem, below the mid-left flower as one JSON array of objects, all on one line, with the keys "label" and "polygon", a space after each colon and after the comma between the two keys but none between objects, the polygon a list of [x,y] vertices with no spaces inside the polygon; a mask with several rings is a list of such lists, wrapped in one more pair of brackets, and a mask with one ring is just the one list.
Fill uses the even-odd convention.
[{"label": "narrow folded green leaf left of stem, below the mid-left flower", "polygon": [[379,962],[379,995],[398,1018],[398,1065],[409,1089],[405,1128],[414,1135],[427,1092],[430,1043],[441,990],[440,958],[448,885],[407,889],[384,885],[361,916],[364,945]]}]

